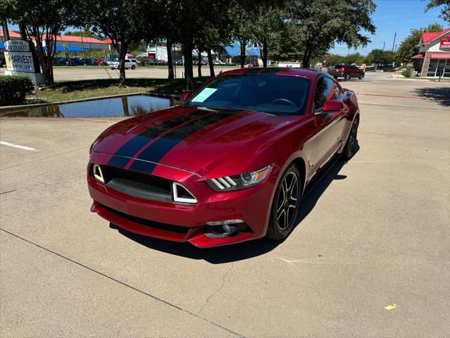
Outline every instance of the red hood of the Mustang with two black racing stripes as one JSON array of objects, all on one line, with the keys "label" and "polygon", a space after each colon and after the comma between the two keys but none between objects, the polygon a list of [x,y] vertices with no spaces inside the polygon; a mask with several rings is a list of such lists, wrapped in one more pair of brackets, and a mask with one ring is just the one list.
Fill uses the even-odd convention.
[{"label": "red hood of the Mustang with two black racing stripes", "polygon": [[204,177],[237,175],[273,163],[270,144],[296,118],[244,110],[175,106],[109,127],[92,151],[108,162],[151,173],[158,163]]}]

